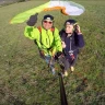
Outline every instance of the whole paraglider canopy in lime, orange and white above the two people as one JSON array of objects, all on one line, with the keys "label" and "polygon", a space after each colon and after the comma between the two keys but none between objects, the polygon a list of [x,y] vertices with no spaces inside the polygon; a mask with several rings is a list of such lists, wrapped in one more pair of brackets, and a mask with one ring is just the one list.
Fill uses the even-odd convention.
[{"label": "whole paraglider canopy in lime, orange and white above the two people", "polygon": [[50,0],[49,2],[35,7],[34,9],[27,10],[23,13],[14,16],[10,24],[22,23],[35,13],[43,11],[61,10],[61,13],[66,15],[81,15],[84,12],[84,7],[72,1]]}]

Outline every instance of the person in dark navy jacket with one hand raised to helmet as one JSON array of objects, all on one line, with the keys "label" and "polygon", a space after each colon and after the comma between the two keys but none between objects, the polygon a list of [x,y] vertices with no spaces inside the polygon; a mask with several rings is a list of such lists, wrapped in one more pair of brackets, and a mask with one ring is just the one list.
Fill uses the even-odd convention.
[{"label": "person in dark navy jacket with one hand raised to helmet", "polygon": [[60,31],[60,36],[65,56],[60,60],[62,60],[65,67],[65,75],[67,77],[67,70],[69,68],[71,69],[71,71],[74,70],[73,66],[77,61],[79,48],[82,48],[84,46],[84,39],[80,26],[77,24],[75,20],[66,21],[65,30]]}]

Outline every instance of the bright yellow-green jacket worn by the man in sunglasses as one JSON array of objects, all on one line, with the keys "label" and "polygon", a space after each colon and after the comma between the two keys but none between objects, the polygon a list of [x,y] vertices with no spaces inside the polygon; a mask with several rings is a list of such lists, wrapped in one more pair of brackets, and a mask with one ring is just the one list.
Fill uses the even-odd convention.
[{"label": "bright yellow-green jacket worn by the man in sunglasses", "polygon": [[52,56],[57,51],[62,51],[61,39],[56,27],[54,32],[42,27],[40,32],[37,27],[26,26],[24,35],[30,39],[35,39],[39,50],[43,50],[45,55]]}]

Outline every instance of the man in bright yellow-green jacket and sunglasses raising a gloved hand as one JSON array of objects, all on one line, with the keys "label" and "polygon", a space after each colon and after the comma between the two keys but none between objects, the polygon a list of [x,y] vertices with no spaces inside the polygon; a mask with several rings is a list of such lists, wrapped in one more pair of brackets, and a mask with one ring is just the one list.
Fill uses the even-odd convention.
[{"label": "man in bright yellow-green jacket and sunglasses raising a gloved hand", "polygon": [[30,39],[34,39],[38,46],[40,57],[50,67],[52,74],[55,74],[54,57],[55,54],[61,55],[62,46],[59,32],[54,27],[54,16],[47,14],[42,21],[42,26],[35,27],[37,22],[37,13],[32,15],[27,21],[27,26],[25,27],[24,35]]}]

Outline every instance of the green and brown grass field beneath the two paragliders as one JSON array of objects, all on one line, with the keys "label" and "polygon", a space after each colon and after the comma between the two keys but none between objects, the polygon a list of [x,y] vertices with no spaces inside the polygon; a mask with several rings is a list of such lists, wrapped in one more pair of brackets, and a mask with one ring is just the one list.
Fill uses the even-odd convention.
[{"label": "green and brown grass field beneath the two paragliders", "polygon": [[[39,58],[33,40],[24,37],[26,24],[9,24],[18,13],[48,0],[40,1],[0,8],[0,105],[60,105],[59,79],[51,75]],[[105,105],[105,1],[75,1],[85,8],[82,15],[67,16],[51,11],[42,12],[38,20],[50,13],[59,30],[67,19],[78,21],[85,47],[80,51],[75,71],[69,71],[69,77],[63,79],[68,104]]]}]

